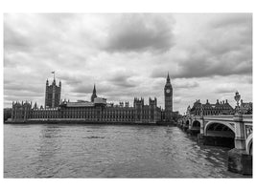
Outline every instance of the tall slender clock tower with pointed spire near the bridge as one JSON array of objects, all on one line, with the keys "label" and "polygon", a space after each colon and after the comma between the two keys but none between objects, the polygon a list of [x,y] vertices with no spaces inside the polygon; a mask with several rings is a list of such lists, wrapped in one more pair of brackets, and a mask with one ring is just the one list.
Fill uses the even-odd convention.
[{"label": "tall slender clock tower with pointed spire near the bridge", "polygon": [[165,119],[171,120],[172,113],[173,113],[173,87],[170,81],[169,73],[166,79],[164,95],[165,95]]}]

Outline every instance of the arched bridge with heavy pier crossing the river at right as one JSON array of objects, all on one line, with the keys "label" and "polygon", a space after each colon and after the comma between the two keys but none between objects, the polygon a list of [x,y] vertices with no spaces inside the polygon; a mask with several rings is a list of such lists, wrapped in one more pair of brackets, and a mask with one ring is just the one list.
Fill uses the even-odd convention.
[{"label": "arched bridge with heavy pier crossing the river at right", "polygon": [[198,135],[198,143],[227,146],[228,170],[252,174],[252,115],[193,116],[179,118],[177,126]]}]

